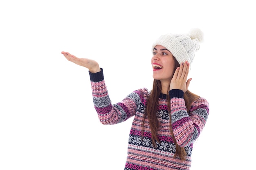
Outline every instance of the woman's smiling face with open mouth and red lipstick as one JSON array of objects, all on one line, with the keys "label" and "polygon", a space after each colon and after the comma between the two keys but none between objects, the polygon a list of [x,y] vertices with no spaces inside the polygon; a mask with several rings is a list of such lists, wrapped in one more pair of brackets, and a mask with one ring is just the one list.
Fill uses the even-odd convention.
[{"label": "woman's smiling face with open mouth and red lipstick", "polygon": [[160,80],[161,82],[171,81],[174,73],[175,61],[170,51],[164,46],[155,46],[151,64],[153,67],[154,79]]}]

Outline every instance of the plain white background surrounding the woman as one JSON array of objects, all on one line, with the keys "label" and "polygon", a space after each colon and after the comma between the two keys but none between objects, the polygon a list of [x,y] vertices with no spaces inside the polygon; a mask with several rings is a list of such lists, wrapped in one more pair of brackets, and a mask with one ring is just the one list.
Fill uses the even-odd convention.
[{"label": "plain white background surrounding the woman", "polygon": [[[88,70],[97,60],[112,103],[151,89],[151,45],[198,27],[190,90],[210,103],[191,170],[255,169],[255,26],[243,0],[1,0],[0,170],[122,170],[132,119],[100,124]],[[89,168],[90,167],[90,168]]]}]

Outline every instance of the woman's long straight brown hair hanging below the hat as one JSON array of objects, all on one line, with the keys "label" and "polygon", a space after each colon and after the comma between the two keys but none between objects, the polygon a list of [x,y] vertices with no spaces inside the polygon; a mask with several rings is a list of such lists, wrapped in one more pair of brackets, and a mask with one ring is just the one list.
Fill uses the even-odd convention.
[{"label": "woman's long straight brown hair hanging below the hat", "polygon": [[[175,59],[175,58],[174,58]],[[176,70],[177,67],[179,67],[180,64],[177,62],[175,59],[175,66],[174,66],[174,71]],[[143,123],[142,123],[142,128],[144,131],[144,123],[146,117],[148,117],[149,125],[150,125],[150,130],[151,130],[151,140],[153,143],[153,146],[156,147],[155,141],[158,141],[160,143],[160,140],[157,137],[157,131],[159,129],[159,121],[157,119],[157,107],[159,106],[158,100],[159,100],[159,95],[162,92],[162,86],[160,80],[154,79],[153,81],[153,88],[151,91],[151,94],[148,96],[148,101],[147,101],[147,106],[146,106],[146,112],[143,118]],[[191,93],[189,90],[187,90],[184,93],[184,100],[185,100],[185,105],[186,105],[186,110],[189,113],[189,110],[191,108],[191,104],[198,99],[199,96],[195,95],[194,93]],[[168,106],[168,112],[170,114],[170,130],[171,130],[171,135],[173,137],[173,141],[176,145],[176,153],[175,157],[178,155],[180,159],[185,160],[186,157],[186,152],[185,149],[182,148],[177,144],[177,141],[173,135],[173,130],[171,126],[171,99],[170,96],[167,94],[167,106]],[[142,132],[143,134],[143,132]]]}]

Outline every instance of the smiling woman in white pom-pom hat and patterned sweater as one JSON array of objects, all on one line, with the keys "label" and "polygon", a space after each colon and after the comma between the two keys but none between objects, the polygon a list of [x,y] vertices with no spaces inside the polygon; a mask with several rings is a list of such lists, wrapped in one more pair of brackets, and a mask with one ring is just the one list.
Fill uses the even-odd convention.
[{"label": "smiling woman in white pom-pom hat and patterned sweater", "polygon": [[200,47],[202,31],[166,34],[153,44],[153,89],[141,88],[112,104],[103,69],[90,59],[61,52],[67,60],[89,69],[95,109],[102,124],[134,117],[125,170],[189,170],[193,142],[209,115],[206,99],[188,88],[189,67]]}]

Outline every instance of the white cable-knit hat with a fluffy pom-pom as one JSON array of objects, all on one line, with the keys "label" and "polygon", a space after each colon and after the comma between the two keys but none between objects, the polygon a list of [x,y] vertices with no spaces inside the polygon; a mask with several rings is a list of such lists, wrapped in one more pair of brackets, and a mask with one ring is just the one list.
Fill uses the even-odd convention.
[{"label": "white cable-knit hat with a fluffy pom-pom", "polygon": [[198,51],[200,48],[202,40],[203,33],[198,28],[191,29],[189,34],[161,35],[153,44],[152,51],[155,46],[162,45],[172,53],[179,64],[185,61],[191,63],[195,56],[195,51]]}]

